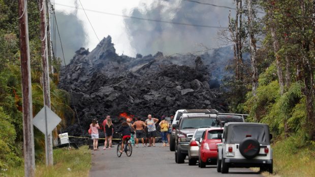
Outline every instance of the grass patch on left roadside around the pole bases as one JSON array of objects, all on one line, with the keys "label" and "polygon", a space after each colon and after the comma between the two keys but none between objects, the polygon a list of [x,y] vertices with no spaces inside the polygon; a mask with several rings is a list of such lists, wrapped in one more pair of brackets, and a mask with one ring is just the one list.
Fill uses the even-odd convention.
[{"label": "grass patch on left roadside around the pole bases", "polygon": [[[91,153],[87,146],[82,146],[79,150],[56,149],[53,151],[54,165],[46,167],[45,159],[37,162],[36,176],[88,176],[91,167]],[[24,176],[24,166],[11,168],[7,176]]]}]

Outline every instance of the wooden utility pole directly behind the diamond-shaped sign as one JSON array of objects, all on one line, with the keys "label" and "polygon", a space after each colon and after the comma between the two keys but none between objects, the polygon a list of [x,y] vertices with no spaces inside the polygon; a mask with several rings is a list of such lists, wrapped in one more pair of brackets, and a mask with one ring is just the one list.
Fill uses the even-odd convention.
[{"label": "wooden utility pole directly behind the diamond-shaped sign", "polygon": [[[40,14],[41,14],[41,41],[42,41],[42,65],[43,65],[43,92],[44,104],[51,108],[50,103],[50,85],[49,85],[49,64],[48,64],[48,45],[47,45],[47,23],[46,23],[46,0],[40,0]],[[45,150],[46,150],[46,165],[53,165],[52,158],[52,134],[48,132],[45,136]]]}]

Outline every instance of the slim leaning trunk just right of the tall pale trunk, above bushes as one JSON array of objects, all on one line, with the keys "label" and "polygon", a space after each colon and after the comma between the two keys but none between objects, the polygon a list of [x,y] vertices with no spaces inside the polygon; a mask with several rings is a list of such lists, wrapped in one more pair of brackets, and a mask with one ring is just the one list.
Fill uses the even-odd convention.
[{"label": "slim leaning trunk just right of the tall pale trunk, above bushes", "polygon": [[277,39],[275,24],[274,24],[273,19],[272,19],[271,10],[268,10],[268,13],[269,13],[269,21],[270,21],[270,31],[271,31],[271,36],[272,36],[272,40],[273,40],[273,49],[274,49],[274,54],[275,54],[275,58],[276,58],[276,66],[277,66],[277,75],[278,75],[279,86],[280,86],[280,94],[283,95],[285,84],[283,81],[281,59],[280,59],[280,56],[278,54],[280,46],[279,46],[279,41]]}]

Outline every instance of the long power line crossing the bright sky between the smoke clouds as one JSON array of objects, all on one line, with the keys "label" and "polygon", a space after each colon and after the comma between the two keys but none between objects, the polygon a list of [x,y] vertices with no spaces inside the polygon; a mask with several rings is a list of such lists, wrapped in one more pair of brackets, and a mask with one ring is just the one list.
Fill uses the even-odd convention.
[{"label": "long power line crossing the bright sky between the smoke clouds", "polygon": [[[75,8],[73,6],[68,6],[68,5],[62,5],[62,4],[57,4],[59,6],[64,6],[64,7],[69,7],[69,8]],[[75,8],[75,9],[81,9],[81,8]],[[101,14],[107,14],[107,15],[113,15],[113,16],[119,16],[119,17],[125,17],[125,18],[133,18],[133,19],[138,19],[138,20],[146,20],[146,21],[154,21],[154,22],[160,22],[160,23],[169,23],[169,24],[177,24],[177,25],[185,25],[185,26],[196,26],[196,27],[207,27],[207,28],[219,28],[219,29],[227,29],[228,27],[222,27],[222,26],[209,26],[209,25],[199,25],[199,24],[188,24],[188,23],[180,23],[180,22],[172,22],[172,21],[164,21],[164,20],[155,20],[155,19],[148,19],[148,18],[140,18],[140,17],[134,17],[134,16],[128,16],[128,15],[120,15],[120,14],[113,14],[113,13],[108,13],[108,12],[101,12],[101,11],[96,11],[96,10],[90,10],[90,9],[85,9],[86,11],[90,12],[96,12],[96,13],[101,13]]]}]

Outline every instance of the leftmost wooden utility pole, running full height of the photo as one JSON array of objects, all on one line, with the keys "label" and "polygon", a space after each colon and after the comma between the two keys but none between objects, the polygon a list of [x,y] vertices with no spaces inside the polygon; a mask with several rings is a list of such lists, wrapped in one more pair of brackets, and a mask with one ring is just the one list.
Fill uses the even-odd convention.
[{"label": "leftmost wooden utility pole, running full height of the photo", "polygon": [[31,99],[30,60],[28,44],[28,16],[27,1],[18,1],[19,28],[20,28],[20,52],[21,52],[21,76],[23,98],[23,154],[24,176],[35,176],[35,150],[33,133],[33,109]]}]

